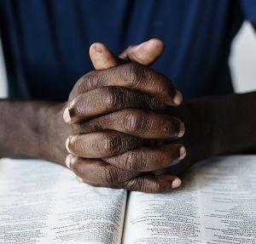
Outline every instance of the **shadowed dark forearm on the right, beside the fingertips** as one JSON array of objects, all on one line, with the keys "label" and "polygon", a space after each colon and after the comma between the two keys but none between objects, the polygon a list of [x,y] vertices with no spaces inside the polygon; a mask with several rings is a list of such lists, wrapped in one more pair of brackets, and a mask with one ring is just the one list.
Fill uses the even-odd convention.
[{"label": "shadowed dark forearm on the right, beside the fingertips", "polygon": [[256,152],[256,93],[230,94],[185,101],[183,143],[192,160],[208,156]]}]

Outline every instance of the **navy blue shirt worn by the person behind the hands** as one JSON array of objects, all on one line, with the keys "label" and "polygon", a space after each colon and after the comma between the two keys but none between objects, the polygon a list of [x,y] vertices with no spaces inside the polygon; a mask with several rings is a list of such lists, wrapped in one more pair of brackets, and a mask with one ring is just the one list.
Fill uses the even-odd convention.
[{"label": "navy blue shirt worn by the person behind the hands", "polygon": [[93,69],[91,43],[115,54],[158,37],[165,53],[153,65],[185,98],[233,92],[230,44],[255,0],[0,0],[9,97],[65,100]]}]

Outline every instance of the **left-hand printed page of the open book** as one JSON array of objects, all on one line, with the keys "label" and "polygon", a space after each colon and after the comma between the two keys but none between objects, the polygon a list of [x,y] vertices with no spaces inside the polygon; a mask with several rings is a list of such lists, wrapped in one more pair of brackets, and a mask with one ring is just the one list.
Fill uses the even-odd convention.
[{"label": "left-hand printed page of the open book", "polygon": [[0,161],[0,243],[119,244],[125,201],[53,163]]}]

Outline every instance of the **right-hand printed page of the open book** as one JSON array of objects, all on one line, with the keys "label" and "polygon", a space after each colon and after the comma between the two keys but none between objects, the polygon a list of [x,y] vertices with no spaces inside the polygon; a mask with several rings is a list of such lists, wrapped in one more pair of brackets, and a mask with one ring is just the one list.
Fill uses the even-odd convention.
[{"label": "right-hand printed page of the open book", "polygon": [[131,193],[123,243],[256,243],[256,156],[202,162],[184,178],[166,194]]}]

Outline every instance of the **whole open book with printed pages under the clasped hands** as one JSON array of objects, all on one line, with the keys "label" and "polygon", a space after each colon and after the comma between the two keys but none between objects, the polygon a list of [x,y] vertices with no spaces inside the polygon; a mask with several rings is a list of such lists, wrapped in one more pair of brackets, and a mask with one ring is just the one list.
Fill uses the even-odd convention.
[{"label": "whole open book with printed pages under the clasped hands", "polygon": [[64,167],[0,161],[0,243],[256,243],[256,156],[192,167],[166,194],[94,188]]}]

